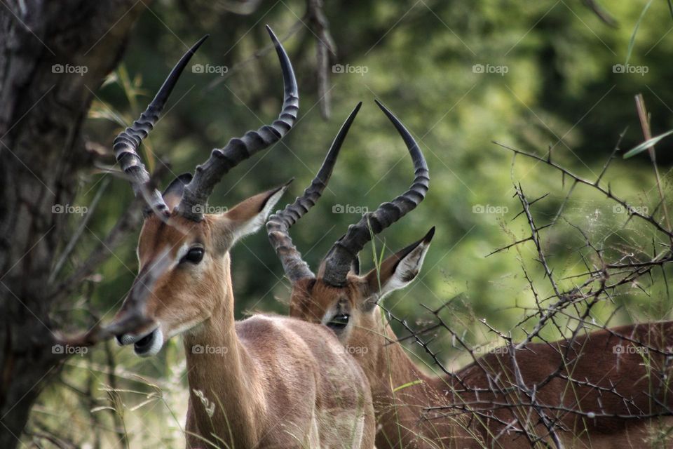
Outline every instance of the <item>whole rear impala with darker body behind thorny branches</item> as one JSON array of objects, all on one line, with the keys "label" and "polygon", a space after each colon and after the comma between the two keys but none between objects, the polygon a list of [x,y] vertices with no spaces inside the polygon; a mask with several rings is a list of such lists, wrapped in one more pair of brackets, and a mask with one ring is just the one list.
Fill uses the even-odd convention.
[{"label": "whole rear impala with darker body behind thorny branches", "polygon": [[[421,150],[402,123],[379,107],[407,143],[415,170],[412,187],[348,227],[322,260],[317,276],[302,260],[288,229],[318,201],[335,160],[327,159],[303,196],[266,224],[292,282],[290,315],[331,328],[365,370],[376,412],[376,447],[641,448],[651,447],[656,436],[665,437],[656,435],[652,424],[663,424],[663,431],[673,424],[665,416],[671,415],[673,402],[667,387],[671,360],[664,354],[673,347],[670,322],[587,333],[572,344],[560,340],[504,347],[445,377],[416,368],[376,304],[416,278],[434,228],[384,260],[378,272],[359,272],[360,250],[414,209],[428,191]],[[533,403],[543,407],[534,410]],[[552,433],[548,428],[555,422],[561,428]],[[522,425],[538,441],[526,438]]]}]

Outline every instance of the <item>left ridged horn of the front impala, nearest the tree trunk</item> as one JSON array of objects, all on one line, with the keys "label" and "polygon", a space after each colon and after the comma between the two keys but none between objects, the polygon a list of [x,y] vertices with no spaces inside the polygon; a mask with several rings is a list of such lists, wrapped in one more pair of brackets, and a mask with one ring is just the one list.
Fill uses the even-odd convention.
[{"label": "left ridged horn of the front impala, nearest the tree trunk", "polygon": [[163,106],[166,100],[168,100],[168,96],[172,92],[173,87],[175,87],[175,83],[177,83],[184,67],[205,39],[208,39],[208,35],[199,39],[197,43],[189,48],[187,53],[182,55],[182,58],[180,58],[175,67],[170,71],[170,74],[168,74],[168,77],[163,81],[161,88],[154,96],[154,100],[149,103],[145,112],[140,114],[140,118],[134,121],[131,126],[119,133],[114,138],[114,142],[112,142],[114,156],[121,169],[128,176],[135,196],[144,196],[151,210],[158,210],[161,213],[168,213],[168,207],[161,198],[159,191],[150,186],[149,173],[147,173],[142,159],[137,154],[137,149],[140,147],[140,142],[144,138],[147,138],[147,135],[154,128],[154,123],[158,120]]}]

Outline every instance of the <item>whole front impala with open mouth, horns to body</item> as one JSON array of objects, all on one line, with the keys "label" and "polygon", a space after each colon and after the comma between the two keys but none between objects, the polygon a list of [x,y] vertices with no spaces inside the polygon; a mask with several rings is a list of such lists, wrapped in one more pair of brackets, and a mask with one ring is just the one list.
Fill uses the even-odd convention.
[{"label": "whole front impala with open mouth, horns to body", "polygon": [[282,316],[233,319],[229,249],[264,225],[286,187],[252,196],[226,213],[205,213],[222,176],[280,140],[297,118],[292,65],[268,32],[285,86],[283,110],[271,126],[214,149],[193,177],[180,175],[163,194],[151,186],[137,148],[201,39],[170,72],[140,119],[114,140],[116,158],[136,196],[149,204],[138,242],[140,274],[114,326],[137,323],[117,338],[133,344],[140,356],[156,354],[166,340],[182,333],[190,390],[188,447],[372,448],[374,411],[367,378],[331,331]]}]

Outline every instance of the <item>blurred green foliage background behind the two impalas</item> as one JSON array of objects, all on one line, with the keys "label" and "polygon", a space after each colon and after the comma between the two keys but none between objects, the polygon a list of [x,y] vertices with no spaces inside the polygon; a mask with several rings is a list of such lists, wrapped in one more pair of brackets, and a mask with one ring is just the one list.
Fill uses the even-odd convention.
[{"label": "blurred green foliage background behind the two impalas", "polygon": [[[623,149],[644,140],[634,104],[637,93],[644,95],[651,112],[653,134],[672,129],[673,19],[668,2],[605,1],[617,27],[601,22],[579,0],[325,3],[337,46],[328,71],[329,119],[320,114],[316,36],[306,26],[303,1],[260,1],[254,12],[236,15],[228,11],[231,2],[166,0],[147,7],[123,64],[97,91],[86,123],[90,145],[109,149],[114,135],[142,112],[187,46],[206,33],[211,37],[193,64],[226,66],[226,73],[186,70],[147,140],[148,165],[168,159],[172,173],[191,171],[213,147],[270,123],[278,114],[282,93],[278,60],[268,52],[264,30],[265,24],[271,25],[294,64],[300,120],[278,145],[226,175],[211,196],[211,205],[233,206],[296,177],[283,203],[292,201],[318,170],[341,122],[362,100],[329,189],[291,231],[305,259],[317,269],[332,243],[360,217],[333,213],[334,206],[373,209],[403,192],[412,180],[405,146],[374,105],[377,98],[419,141],[431,179],[426,200],[383,232],[377,248],[384,244],[390,253],[437,227],[419,281],[388,297],[386,308],[410,326],[422,328],[432,319],[423,305],[433,309],[455,298],[441,316],[468,342],[498,344],[480,319],[520,338],[532,323],[515,325],[534,306],[522,264],[541,296],[550,294],[535,261],[535,248],[527,243],[486,256],[529,232],[523,217],[512,220],[520,210],[514,184],[520,182],[531,199],[549,193],[533,206],[538,225],[552,219],[570,184],[542,163],[518,156],[512,164],[512,153],[492,141],[540,155],[551,148],[555,161],[593,180],[623,130]],[[625,71],[632,73],[614,68],[627,62],[630,68]],[[331,67],[337,64],[344,70],[335,73]],[[657,147],[666,192],[672,180],[672,142],[663,140]],[[101,186],[107,187],[74,262],[86,257],[132,200],[126,182],[111,178],[106,184],[104,177],[91,173],[81,180],[80,205],[90,203]],[[164,185],[168,182],[167,176]],[[628,160],[618,156],[604,176],[604,185],[608,182],[615,194],[636,206],[653,211],[659,201],[646,154]],[[651,254],[658,236],[636,220],[625,226],[627,215],[614,209],[615,204],[577,187],[564,217],[612,248],[613,255],[620,248]],[[477,213],[479,206],[498,212]],[[73,227],[78,220],[73,217]],[[578,253],[583,238],[573,227],[559,221],[542,236],[557,279],[584,271]],[[137,232],[128,236],[100,269],[100,276],[73,298],[72,309],[57,312],[64,327],[90,323],[88,307],[103,319],[111,318],[137,271],[136,241]],[[287,313],[289,283],[264,232],[239,243],[232,256],[236,315]],[[369,247],[363,251],[362,267],[373,267]],[[657,272],[625,288],[594,309],[592,319],[619,324],[667,318],[671,301],[661,276]],[[569,287],[578,280],[561,282]],[[401,330],[398,335],[403,335]],[[543,335],[559,337],[553,329]],[[422,349],[405,344],[419,354],[419,363],[428,361]],[[449,368],[469,361],[446,331],[437,332],[430,347]],[[31,425],[90,447],[123,445],[123,440],[118,442],[123,434],[131,447],[182,447],[187,394],[182,352],[175,338],[152,359],[137,358],[130,349],[114,344],[75,356],[67,361],[59,382],[41,396]],[[112,361],[114,376],[107,374]],[[96,400],[84,400],[87,392]]]}]

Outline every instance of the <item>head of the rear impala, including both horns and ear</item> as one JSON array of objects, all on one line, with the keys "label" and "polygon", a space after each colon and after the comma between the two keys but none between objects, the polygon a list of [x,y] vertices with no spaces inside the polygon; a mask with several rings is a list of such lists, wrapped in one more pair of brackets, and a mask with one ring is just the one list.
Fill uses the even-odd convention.
[{"label": "head of the rear impala, including both horns and ear", "polygon": [[380,315],[374,313],[374,308],[381,298],[407,286],[416,278],[435,234],[433,227],[423,239],[388,257],[378,270],[360,276],[357,256],[360,250],[374,234],[414,210],[423,201],[430,182],[426,159],[412,134],[381,102],[376,101],[376,105],[395,126],[414,163],[412,186],[392,201],[381,204],[374,212],[362,215],[358,223],[348,227],[348,232],[334,243],[322,260],[318,276],[301,258],[289,235],[290,227],[315,205],[327,186],[341,145],[361,105],[358,104],[344,121],[311,185],[294,203],[269,217],[266,232],[287,278],[292,282],[290,315],[324,324],[337,334],[354,356],[376,360],[383,333]]}]

